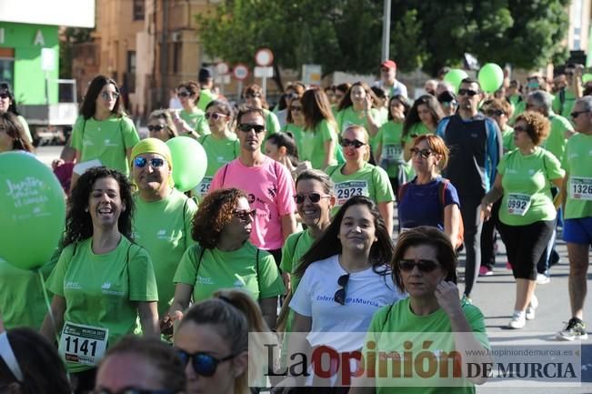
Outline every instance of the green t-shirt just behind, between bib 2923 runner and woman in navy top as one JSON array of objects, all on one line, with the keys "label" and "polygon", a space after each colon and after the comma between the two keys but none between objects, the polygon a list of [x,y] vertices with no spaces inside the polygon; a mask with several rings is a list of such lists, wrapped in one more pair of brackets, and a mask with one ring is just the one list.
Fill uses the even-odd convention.
[{"label": "green t-shirt just behind, between bib 2923 runner and woman in navy top", "polygon": [[376,141],[381,144],[380,167],[388,177],[397,177],[401,166],[409,167],[403,158],[402,134],[403,123],[396,122],[385,123],[376,134]]}]

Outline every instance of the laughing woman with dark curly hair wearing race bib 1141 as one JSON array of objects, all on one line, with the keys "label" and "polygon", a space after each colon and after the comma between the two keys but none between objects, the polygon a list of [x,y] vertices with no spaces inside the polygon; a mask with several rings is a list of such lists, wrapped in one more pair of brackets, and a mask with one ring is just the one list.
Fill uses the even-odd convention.
[{"label": "laughing woman with dark curly hair wearing race bib 1141", "polygon": [[41,332],[52,342],[59,335],[76,393],[93,389],[96,365],[117,339],[160,334],[152,261],[131,241],[131,190],[123,174],[93,167],[68,200],[64,250],[47,279],[53,318],[45,316]]}]

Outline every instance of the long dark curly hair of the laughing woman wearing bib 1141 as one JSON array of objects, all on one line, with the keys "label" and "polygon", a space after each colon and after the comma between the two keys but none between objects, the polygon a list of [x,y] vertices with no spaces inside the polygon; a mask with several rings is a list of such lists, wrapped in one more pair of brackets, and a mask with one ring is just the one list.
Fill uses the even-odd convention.
[{"label": "long dark curly hair of the laughing woman wearing bib 1141", "polygon": [[129,240],[134,239],[132,236],[132,218],[134,217],[135,205],[132,198],[132,184],[125,175],[115,169],[93,167],[78,178],[75,187],[72,189],[72,194],[68,198],[65,237],[62,241],[64,248],[93,236],[93,220],[90,213],[87,212],[88,197],[90,197],[95,182],[104,177],[112,177],[117,181],[121,201],[125,204],[125,211],[119,214],[117,228]]}]

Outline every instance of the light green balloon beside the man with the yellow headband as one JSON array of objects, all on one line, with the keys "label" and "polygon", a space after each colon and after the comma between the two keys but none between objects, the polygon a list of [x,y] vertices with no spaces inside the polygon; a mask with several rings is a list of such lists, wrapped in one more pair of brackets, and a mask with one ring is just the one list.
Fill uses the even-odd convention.
[{"label": "light green balloon beside the man with the yellow headband", "polygon": [[186,192],[199,185],[206,175],[206,150],[195,139],[176,136],[166,141],[173,159],[173,180],[175,188]]}]

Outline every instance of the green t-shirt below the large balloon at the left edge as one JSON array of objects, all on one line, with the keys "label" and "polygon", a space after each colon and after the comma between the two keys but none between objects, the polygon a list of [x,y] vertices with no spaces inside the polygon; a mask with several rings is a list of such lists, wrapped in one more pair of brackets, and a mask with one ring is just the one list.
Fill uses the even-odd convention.
[{"label": "green t-shirt below the large balloon at the left edge", "polygon": [[[44,280],[56,258],[41,270]],[[28,327],[38,330],[47,313],[41,278],[37,271],[16,268],[0,258],[0,312],[6,329]],[[48,295],[51,299],[51,294]]]}]

